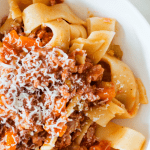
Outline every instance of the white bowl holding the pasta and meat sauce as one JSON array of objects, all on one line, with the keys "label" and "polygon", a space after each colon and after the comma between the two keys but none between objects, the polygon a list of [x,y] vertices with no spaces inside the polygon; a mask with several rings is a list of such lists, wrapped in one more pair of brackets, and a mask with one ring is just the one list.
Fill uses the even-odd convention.
[{"label": "white bowl holding the pasta and meat sauce", "polygon": [[[89,11],[95,16],[112,17],[119,22],[115,43],[121,45],[123,61],[136,77],[142,79],[150,100],[150,26],[143,16],[127,0],[66,0],[66,3],[82,19]],[[8,14],[7,0],[0,0],[0,19]],[[115,121],[120,125],[141,132],[150,150],[150,104],[142,105],[133,119]]]}]

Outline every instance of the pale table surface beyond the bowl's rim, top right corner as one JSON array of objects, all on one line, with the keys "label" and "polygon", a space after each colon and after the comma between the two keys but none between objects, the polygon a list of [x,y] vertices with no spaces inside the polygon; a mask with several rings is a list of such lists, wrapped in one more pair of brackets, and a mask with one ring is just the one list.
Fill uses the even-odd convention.
[{"label": "pale table surface beyond the bowl's rim, top right corner", "polygon": [[150,0],[129,0],[150,24]]}]

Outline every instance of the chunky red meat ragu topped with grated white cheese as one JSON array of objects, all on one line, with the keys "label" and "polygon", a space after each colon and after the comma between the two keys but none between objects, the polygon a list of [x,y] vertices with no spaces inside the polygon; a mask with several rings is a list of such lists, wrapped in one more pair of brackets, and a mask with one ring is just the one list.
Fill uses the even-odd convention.
[{"label": "chunky red meat ragu topped with grated white cheese", "polygon": [[[46,38],[43,36],[45,33],[45,29],[38,30],[31,38],[31,35],[19,36],[15,30],[12,30],[3,39],[0,58],[1,76],[5,82],[1,80],[0,87],[3,92],[1,111],[4,111],[1,121],[5,119],[5,122],[1,140],[4,140],[7,128],[11,125],[11,130],[17,137],[14,141],[17,142],[16,149],[18,150],[42,146],[45,139],[52,134],[62,136],[56,142],[57,149],[70,146],[81,131],[85,117],[82,111],[92,107],[92,102],[103,101],[107,97],[110,100],[112,98],[109,98],[109,94],[104,98],[101,96],[103,93],[101,89],[107,87],[101,87],[104,72],[101,65],[93,65],[89,59],[86,59],[84,65],[77,64],[76,54],[84,55],[83,50],[65,54],[58,48],[40,47],[42,40]],[[40,38],[38,43],[36,37]],[[14,68],[7,68],[4,64],[13,65]],[[97,82],[97,85],[91,84],[92,82]],[[114,88],[110,89],[114,91]],[[66,107],[75,95],[82,96],[86,103],[85,106],[83,103],[81,113],[74,112],[69,117],[72,121],[68,122],[65,117]],[[16,99],[15,105],[12,96]],[[7,104],[3,103],[3,99],[7,101]],[[6,111],[8,106],[11,108],[9,107],[10,109]],[[23,115],[26,117],[24,118]],[[55,124],[58,125],[55,127]],[[33,130],[35,132],[32,132]],[[88,136],[88,138],[91,137]],[[95,142],[95,140],[91,141],[90,146]]]}]

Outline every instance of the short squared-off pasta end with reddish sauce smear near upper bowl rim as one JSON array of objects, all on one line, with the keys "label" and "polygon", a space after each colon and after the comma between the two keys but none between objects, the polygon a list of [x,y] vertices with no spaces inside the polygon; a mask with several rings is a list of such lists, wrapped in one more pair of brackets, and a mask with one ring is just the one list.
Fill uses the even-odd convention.
[{"label": "short squared-off pasta end with reddish sauce smear near upper bowl rim", "polygon": [[93,31],[115,31],[116,20],[111,18],[92,17],[87,19],[87,31],[90,35]]}]

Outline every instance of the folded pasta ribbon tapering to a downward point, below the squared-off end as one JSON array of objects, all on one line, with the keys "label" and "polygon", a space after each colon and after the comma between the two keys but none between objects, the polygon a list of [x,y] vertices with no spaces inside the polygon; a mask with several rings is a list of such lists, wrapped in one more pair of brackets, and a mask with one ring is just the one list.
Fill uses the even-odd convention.
[{"label": "folded pasta ribbon tapering to a downward point, below the squared-off end", "polygon": [[113,31],[94,31],[87,39],[78,38],[71,43],[84,44],[83,49],[86,50],[87,56],[97,64],[105,55],[114,35]]}]

